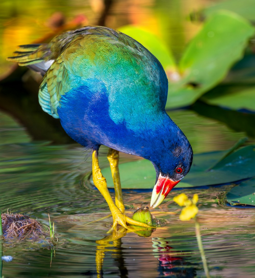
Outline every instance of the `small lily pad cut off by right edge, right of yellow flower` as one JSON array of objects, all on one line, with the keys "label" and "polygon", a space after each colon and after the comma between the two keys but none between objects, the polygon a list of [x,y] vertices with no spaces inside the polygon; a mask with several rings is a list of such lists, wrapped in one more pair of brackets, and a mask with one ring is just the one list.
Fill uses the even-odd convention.
[{"label": "small lily pad cut off by right edge, right of yellow flower", "polygon": [[233,187],[226,195],[230,205],[255,206],[255,178]]}]

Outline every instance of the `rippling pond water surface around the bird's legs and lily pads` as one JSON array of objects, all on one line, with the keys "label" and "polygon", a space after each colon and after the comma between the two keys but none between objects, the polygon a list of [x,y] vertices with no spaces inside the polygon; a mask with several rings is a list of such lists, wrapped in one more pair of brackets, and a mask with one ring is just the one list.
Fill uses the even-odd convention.
[{"label": "rippling pond water surface around the bird's legs and lily pads", "polygon": [[[173,202],[179,192],[199,195],[198,217],[211,276],[255,275],[255,210],[218,202],[218,196],[232,185],[173,190],[151,211],[167,224],[150,237],[128,233],[102,241],[108,236],[111,217],[100,193],[84,187],[91,158],[84,159],[86,154],[79,145],[31,141],[11,117],[0,115],[1,210],[24,213],[45,225],[49,213],[58,238],[55,247],[47,241],[4,242],[3,255],[13,257],[11,262],[3,262],[5,277],[205,277],[194,221],[180,221],[180,208]],[[194,142],[195,152],[226,149],[244,135],[193,111],[172,111],[171,116]],[[183,118],[190,118],[192,125]],[[102,147],[101,167],[107,166],[106,153]],[[120,160],[133,159],[121,154]],[[149,205],[150,196],[151,192],[124,191],[127,215]],[[100,267],[101,276],[97,276]]]}]

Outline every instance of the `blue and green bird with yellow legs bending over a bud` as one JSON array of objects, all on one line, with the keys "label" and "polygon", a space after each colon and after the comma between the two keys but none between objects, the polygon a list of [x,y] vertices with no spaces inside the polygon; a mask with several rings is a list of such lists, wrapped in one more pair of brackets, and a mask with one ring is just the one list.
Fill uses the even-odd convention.
[{"label": "blue and green bird with yellow legs bending over a bud", "polygon": [[[119,152],[154,165],[152,207],[189,172],[193,157],[187,138],[165,111],[168,81],[157,58],[119,31],[86,26],[47,44],[22,45],[8,60],[43,75],[43,111],[59,118],[72,139],[92,150],[93,181],[109,205],[113,229],[117,224],[148,227],[124,214]],[[115,202],[98,165],[101,145],[109,147]]]}]

